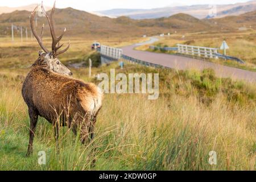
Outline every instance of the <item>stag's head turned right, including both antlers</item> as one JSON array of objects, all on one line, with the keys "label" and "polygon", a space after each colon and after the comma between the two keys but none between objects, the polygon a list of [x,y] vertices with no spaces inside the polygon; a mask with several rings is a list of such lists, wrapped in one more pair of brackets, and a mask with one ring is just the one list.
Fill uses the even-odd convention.
[{"label": "stag's head turned right, including both antlers", "polygon": [[52,50],[49,51],[46,48],[46,46],[44,46],[44,44],[43,44],[44,24],[42,26],[40,36],[37,34],[37,32],[35,30],[34,20],[35,20],[36,10],[38,10],[38,6],[36,6],[35,10],[31,13],[31,16],[30,16],[30,25],[31,25],[32,33],[34,34],[36,40],[38,40],[38,43],[44,52],[39,51],[39,59],[36,61],[36,63],[34,65],[46,65],[53,72],[60,73],[61,75],[72,76],[73,75],[72,72],[67,67],[65,67],[65,65],[62,64],[59,59],[57,59],[57,56],[59,56],[61,53],[66,52],[69,49],[70,41],[68,43],[68,46],[65,49],[63,49],[62,51],[59,51],[59,49],[61,47],[63,47],[63,44],[60,45],[60,40],[61,40],[61,38],[63,38],[66,28],[64,28],[63,34],[61,34],[59,37],[57,37],[55,35],[55,29],[54,29],[54,24],[53,24],[53,14],[55,12],[55,2],[54,2],[54,5],[53,5],[50,15],[48,15],[46,13],[46,10],[44,9],[44,6],[43,6],[43,2],[42,2],[41,7],[42,7],[43,13],[44,13],[44,15],[46,15],[46,18],[49,23],[49,28],[50,28],[51,36],[52,36]]}]

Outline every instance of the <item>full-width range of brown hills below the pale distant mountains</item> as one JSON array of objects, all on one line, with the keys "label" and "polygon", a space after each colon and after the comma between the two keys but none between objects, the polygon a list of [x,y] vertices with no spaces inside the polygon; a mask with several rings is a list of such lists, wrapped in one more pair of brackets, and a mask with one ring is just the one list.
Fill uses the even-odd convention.
[{"label": "full-width range of brown hills below the pale distant mountains", "polygon": [[[109,18],[97,16],[72,8],[56,9],[56,32],[59,34],[64,27],[67,36],[142,36],[159,35],[167,32],[199,32],[237,29],[239,27],[256,27],[256,11],[240,16],[224,18],[198,19],[188,14],[175,14],[167,18],[131,19],[127,16]],[[11,35],[11,24],[14,24],[15,35],[20,34],[20,27],[30,30],[30,11],[14,11],[0,15],[0,36]],[[38,17],[38,31],[42,24],[46,25],[45,34],[49,35],[45,17]],[[24,32],[24,31],[23,31]]]}]

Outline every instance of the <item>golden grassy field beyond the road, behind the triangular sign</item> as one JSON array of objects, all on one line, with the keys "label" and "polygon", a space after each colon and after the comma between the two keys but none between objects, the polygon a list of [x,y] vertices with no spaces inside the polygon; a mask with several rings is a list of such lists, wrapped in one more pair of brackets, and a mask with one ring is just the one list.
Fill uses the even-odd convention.
[{"label": "golden grassy field beyond the road, behind the triangular sign", "polygon": [[[184,38],[182,38],[183,35],[185,36]],[[234,31],[226,33],[221,32],[220,34],[218,34],[218,32],[197,32],[188,34],[177,33],[172,34],[170,37],[161,38],[160,41],[156,42],[154,45],[162,47],[176,47],[176,44],[186,44],[191,46],[220,48],[223,40],[226,40],[226,43],[228,43],[230,48],[226,51],[226,54],[242,59],[245,61],[245,64],[240,64],[231,60],[225,61],[222,59],[211,59],[208,61],[212,61],[217,64],[228,65],[230,67],[256,71],[255,35],[256,32],[254,30]],[[137,49],[143,51],[151,51],[148,49],[148,45],[138,47]],[[218,52],[224,53],[222,50],[219,50]]]}]

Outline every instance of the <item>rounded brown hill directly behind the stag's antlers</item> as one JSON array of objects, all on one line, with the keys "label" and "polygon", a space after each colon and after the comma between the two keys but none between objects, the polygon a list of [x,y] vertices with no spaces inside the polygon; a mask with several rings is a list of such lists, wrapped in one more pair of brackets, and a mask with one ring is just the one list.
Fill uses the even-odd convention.
[{"label": "rounded brown hill directly behind the stag's antlers", "polygon": [[[30,27],[29,11],[14,11],[9,14],[0,15],[0,35],[10,35],[11,23],[14,23],[15,34],[19,34],[19,27]],[[128,32],[133,35],[133,27],[125,24],[115,23],[108,17],[86,13],[72,8],[56,9],[55,11],[56,31],[63,31],[67,28],[67,35],[102,35],[108,36],[115,33]],[[46,24],[46,34],[48,33],[48,23],[45,17],[38,18],[38,25]],[[39,29],[39,28],[38,28]]]}]

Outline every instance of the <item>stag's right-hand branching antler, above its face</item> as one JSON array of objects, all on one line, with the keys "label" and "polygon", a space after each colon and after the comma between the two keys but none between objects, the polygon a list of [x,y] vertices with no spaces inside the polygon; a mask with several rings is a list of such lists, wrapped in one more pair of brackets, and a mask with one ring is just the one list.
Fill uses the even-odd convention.
[{"label": "stag's right-hand branching antler, above its face", "polygon": [[41,7],[42,7],[44,15],[46,15],[46,18],[48,20],[49,27],[50,27],[50,30],[51,30],[51,35],[52,35],[52,51],[54,51],[55,52],[55,56],[57,56],[57,55],[60,55],[61,53],[66,52],[69,49],[70,41],[68,43],[68,46],[65,49],[63,49],[62,51],[57,52],[63,46],[63,44],[61,44],[59,46],[59,43],[60,43],[60,40],[63,38],[63,35],[65,34],[65,31],[67,29],[65,28],[64,32],[57,38],[57,36],[55,35],[55,29],[54,29],[54,24],[53,24],[53,14],[55,12],[55,3],[56,3],[56,1],[54,2],[51,14],[49,16],[46,13],[46,10],[44,9],[43,2],[42,2],[42,6]]}]

